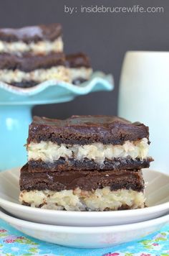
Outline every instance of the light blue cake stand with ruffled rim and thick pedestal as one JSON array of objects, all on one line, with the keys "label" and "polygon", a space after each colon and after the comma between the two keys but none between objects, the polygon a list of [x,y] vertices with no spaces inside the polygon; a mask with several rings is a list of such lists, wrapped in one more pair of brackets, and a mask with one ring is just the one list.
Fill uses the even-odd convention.
[{"label": "light blue cake stand with ruffled rim and thick pedestal", "polygon": [[94,91],[112,91],[111,75],[95,72],[80,86],[62,81],[46,81],[33,88],[16,88],[0,83],[0,170],[26,163],[26,138],[32,122],[32,108],[38,104],[72,101]]}]

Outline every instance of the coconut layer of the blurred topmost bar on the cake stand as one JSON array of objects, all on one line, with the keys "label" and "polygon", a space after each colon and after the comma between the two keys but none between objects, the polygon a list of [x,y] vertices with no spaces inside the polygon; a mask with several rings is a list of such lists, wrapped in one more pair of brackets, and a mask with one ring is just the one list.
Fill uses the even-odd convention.
[{"label": "coconut layer of the blurred topmost bar on the cake stand", "polygon": [[42,40],[38,42],[4,42],[0,41],[0,52],[9,52],[9,53],[23,53],[23,52],[32,52],[36,54],[47,54],[49,52],[62,52],[63,51],[63,42],[62,37],[58,37],[54,41]]}]

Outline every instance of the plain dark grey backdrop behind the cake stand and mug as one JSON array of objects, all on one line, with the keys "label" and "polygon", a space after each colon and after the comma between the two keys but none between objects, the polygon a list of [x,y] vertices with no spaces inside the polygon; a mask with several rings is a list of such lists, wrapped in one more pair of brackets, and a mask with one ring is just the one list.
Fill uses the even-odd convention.
[{"label": "plain dark grey backdrop behind the cake stand and mug", "polygon": [[[1,27],[22,27],[60,22],[64,51],[90,55],[94,70],[112,73],[115,90],[80,96],[64,104],[35,106],[33,114],[66,118],[72,114],[117,114],[122,59],[127,50],[168,50],[168,0],[6,0],[0,1]],[[64,12],[64,6],[163,6],[163,13]]]}]

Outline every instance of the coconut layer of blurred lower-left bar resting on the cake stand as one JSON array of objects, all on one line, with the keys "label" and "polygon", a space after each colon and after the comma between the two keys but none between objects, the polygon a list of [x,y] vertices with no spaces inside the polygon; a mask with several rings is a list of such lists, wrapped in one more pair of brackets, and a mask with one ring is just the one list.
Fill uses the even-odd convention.
[{"label": "coconut layer of blurred lower-left bar resting on the cake stand", "polygon": [[43,82],[50,79],[57,79],[61,81],[70,82],[69,68],[62,65],[48,69],[40,68],[31,72],[24,72],[21,70],[0,70],[0,81],[4,83],[21,83],[21,81],[37,81]]}]

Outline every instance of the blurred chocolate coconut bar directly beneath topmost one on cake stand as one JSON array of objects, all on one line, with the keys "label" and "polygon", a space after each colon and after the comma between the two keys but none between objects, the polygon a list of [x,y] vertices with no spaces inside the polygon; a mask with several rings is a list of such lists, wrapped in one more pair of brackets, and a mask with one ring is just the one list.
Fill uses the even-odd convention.
[{"label": "blurred chocolate coconut bar directly beneath topmost one on cake stand", "polygon": [[0,55],[0,81],[27,88],[50,79],[70,82],[64,53],[48,55],[27,54],[24,57],[4,53]]}]

